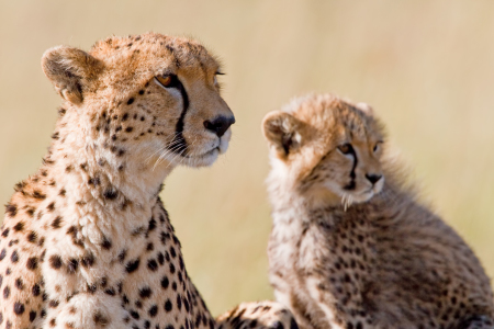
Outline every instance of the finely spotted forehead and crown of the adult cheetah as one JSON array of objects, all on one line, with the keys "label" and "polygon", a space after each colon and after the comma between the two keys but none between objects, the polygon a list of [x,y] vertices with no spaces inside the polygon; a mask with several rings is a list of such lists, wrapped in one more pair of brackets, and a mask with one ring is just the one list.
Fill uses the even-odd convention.
[{"label": "finely spotted forehead and crown of the adult cheetah", "polygon": [[200,66],[203,70],[220,71],[221,66],[199,42],[158,33],[110,36],[97,42],[89,53],[109,65],[122,61],[146,65],[165,59],[176,69]]}]

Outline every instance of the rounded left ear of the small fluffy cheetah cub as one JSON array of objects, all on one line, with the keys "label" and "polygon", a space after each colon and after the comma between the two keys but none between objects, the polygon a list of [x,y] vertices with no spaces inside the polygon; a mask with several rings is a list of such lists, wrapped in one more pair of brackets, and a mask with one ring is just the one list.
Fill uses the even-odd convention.
[{"label": "rounded left ear of the small fluffy cheetah cub", "polygon": [[262,133],[266,139],[274,146],[278,156],[285,158],[301,146],[301,128],[304,123],[282,111],[268,113],[262,121]]}]

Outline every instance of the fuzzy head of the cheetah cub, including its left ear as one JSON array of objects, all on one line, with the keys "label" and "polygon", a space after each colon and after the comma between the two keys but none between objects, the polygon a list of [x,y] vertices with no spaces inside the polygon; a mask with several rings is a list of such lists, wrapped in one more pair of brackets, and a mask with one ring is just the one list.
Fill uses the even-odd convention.
[{"label": "fuzzy head of the cheetah cub, including its left ear", "polygon": [[270,186],[283,182],[324,204],[345,206],[382,190],[384,134],[367,104],[332,94],[299,98],[266,115],[262,131],[270,147]]}]

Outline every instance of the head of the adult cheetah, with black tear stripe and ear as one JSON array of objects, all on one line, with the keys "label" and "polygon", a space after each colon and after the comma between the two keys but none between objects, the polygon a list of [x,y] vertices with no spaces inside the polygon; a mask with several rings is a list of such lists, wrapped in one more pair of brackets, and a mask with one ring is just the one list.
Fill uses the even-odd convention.
[{"label": "head of the adult cheetah, with black tear stripe and ear", "polygon": [[195,41],[113,36],[89,52],[48,49],[42,66],[65,100],[59,128],[77,125],[117,156],[201,167],[228,147],[235,118],[220,94],[221,67]]}]

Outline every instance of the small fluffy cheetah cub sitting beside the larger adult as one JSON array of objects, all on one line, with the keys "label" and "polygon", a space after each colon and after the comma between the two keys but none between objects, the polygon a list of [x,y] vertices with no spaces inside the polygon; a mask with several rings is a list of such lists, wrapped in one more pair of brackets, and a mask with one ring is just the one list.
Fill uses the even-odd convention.
[{"label": "small fluffy cheetah cub sitting beside the larger adult", "polygon": [[493,328],[481,263],[405,188],[371,107],[308,95],[262,127],[270,281],[301,328]]}]

